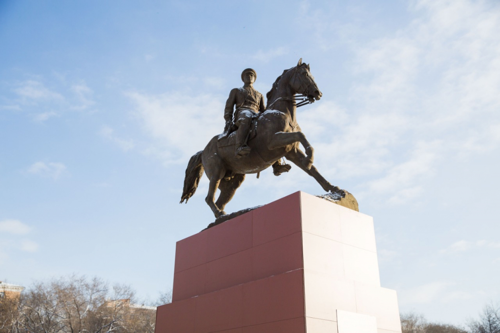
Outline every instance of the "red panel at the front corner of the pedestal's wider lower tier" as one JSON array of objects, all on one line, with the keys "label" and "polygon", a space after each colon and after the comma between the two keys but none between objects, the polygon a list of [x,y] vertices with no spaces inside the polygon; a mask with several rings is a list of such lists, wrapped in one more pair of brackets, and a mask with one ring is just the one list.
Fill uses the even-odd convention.
[{"label": "red panel at the front corner of the pedestal's wider lower tier", "polygon": [[303,316],[303,269],[243,284],[242,326]]}]

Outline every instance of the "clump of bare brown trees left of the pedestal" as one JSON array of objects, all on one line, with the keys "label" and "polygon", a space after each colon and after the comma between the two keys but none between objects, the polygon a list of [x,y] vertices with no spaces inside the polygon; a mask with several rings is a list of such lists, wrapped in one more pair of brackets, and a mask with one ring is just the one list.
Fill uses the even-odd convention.
[{"label": "clump of bare brown trees left of the pedestal", "polygon": [[134,302],[129,286],[98,278],[38,282],[11,310],[0,303],[0,333],[154,333],[155,307]]}]

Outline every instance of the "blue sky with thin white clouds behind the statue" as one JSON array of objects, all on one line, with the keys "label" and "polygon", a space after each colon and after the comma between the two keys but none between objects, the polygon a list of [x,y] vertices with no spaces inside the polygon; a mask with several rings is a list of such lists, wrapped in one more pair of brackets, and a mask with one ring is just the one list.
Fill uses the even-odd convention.
[{"label": "blue sky with thin white clouds behind the statue", "polygon": [[[213,220],[189,157],[240,72],[265,95],[302,57],[315,165],[375,222],[401,311],[464,323],[500,300],[497,1],[0,1],[0,278],[171,288],[175,241]],[[248,176],[227,211],[321,187]]]}]

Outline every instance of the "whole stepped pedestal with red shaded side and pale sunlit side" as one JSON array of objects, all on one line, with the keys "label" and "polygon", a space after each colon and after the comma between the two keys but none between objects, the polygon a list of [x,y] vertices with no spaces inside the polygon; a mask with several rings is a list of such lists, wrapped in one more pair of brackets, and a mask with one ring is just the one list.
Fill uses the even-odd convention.
[{"label": "whole stepped pedestal with red shaded side and pale sunlit side", "polygon": [[177,242],[156,333],[400,332],[370,216],[296,192]]}]

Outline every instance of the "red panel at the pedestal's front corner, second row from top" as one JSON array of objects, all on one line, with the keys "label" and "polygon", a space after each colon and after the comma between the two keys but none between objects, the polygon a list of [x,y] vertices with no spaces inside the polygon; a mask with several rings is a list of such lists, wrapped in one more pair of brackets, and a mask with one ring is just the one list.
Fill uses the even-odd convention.
[{"label": "red panel at the pedestal's front corner, second row from top", "polygon": [[253,280],[303,268],[302,233],[271,240],[252,248]]}]

